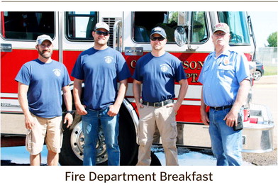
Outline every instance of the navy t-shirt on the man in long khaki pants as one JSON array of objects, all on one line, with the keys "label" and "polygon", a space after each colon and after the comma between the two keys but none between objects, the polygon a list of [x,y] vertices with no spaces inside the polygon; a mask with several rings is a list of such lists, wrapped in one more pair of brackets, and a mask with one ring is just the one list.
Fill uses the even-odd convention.
[{"label": "navy t-shirt on the man in long khaki pants", "polygon": [[133,79],[143,83],[143,101],[154,103],[174,99],[174,80],[179,82],[187,77],[182,62],[174,55],[165,52],[154,57],[149,52],[136,63]]}]

